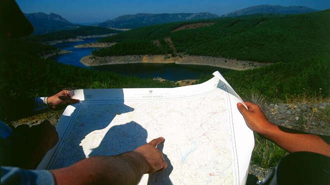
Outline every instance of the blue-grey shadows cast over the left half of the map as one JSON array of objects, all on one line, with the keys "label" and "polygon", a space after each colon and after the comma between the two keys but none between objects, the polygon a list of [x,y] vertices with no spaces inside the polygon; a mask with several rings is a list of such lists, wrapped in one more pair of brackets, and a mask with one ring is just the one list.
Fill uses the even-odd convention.
[{"label": "blue-grey shadows cast over the left half of the map", "polygon": [[[132,112],[134,109],[124,104],[124,93],[122,90],[116,89],[116,92],[111,97],[112,99],[109,103],[94,104],[81,102],[79,112],[86,114],[78,114],[76,116],[76,122],[73,124],[75,132],[70,133],[72,136],[67,137],[67,143],[74,142],[74,154],[70,156],[70,159],[66,160],[68,163],[59,161],[54,168],[72,165],[86,157],[119,155],[133,151],[137,147],[146,144],[147,131],[138,123],[133,121],[119,123],[120,125],[112,123],[116,116]],[[110,103],[113,100],[116,102]],[[86,118],[86,115],[88,118]],[[86,119],[88,122],[85,121]],[[104,135],[103,130],[105,128],[109,129]],[[93,134],[90,135],[90,133]],[[74,141],[71,141],[70,138],[74,138]],[[166,146],[166,140],[158,145],[157,149],[162,151],[164,143]],[[86,145],[92,148],[91,151],[83,150],[82,146]],[[169,175],[173,170],[173,166],[167,156],[165,154],[163,156],[167,162],[167,168],[149,175],[148,185],[172,185]]]}]

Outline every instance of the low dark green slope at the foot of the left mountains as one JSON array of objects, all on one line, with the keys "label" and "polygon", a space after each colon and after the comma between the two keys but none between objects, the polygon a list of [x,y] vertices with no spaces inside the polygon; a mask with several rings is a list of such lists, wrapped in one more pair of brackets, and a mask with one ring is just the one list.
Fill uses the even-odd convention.
[{"label": "low dark green slope at the foot of the left mountains", "polygon": [[97,35],[97,34],[118,33],[118,32],[120,31],[114,29],[108,29],[105,27],[79,26],[76,29],[60,30],[60,31],[41,34],[41,35],[32,35],[27,38],[32,41],[45,42],[51,40],[75,38],[76,36]]}]

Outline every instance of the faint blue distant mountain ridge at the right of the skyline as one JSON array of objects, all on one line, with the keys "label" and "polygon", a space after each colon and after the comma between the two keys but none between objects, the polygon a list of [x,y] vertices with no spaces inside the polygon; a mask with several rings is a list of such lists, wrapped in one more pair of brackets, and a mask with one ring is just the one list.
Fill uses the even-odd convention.
[{"label": "faint blue distant mountain ridge at the right of the skyline", "polygon": [[256,5],[247,8],[239,9],[230,13],[221,15],[221,17],[233,17],[241,15],[249,15],[254,13],[281,13],[281,14],[296,14],[296,13],[309,13],[318,11],[306,6],[281,6],[281,5]]}]

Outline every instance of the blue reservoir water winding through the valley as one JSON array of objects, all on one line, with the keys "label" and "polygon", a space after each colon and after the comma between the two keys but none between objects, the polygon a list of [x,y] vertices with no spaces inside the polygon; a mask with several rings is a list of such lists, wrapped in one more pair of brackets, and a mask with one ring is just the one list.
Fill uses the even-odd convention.
[{"label": "blue reservoir water winding through the valley", "polygon": [[78,67],[90,68],[99,71],[116,72],[123,75],[133,75],[140,78],[160,77],[167,80],[177,81],[185,79],[198,79],[201,74],[211,74],[214,71],[225,73],[232,71],[220,67],[204,66],[204,65],[180,65],[180,64],[159,64],[159,63],[135,63],[135,64],[114,64],[86,67],[80,63],[80,59],[91,54],[95,48],[75,48],[75,45],[95,42],[99,38],[87,38],[78,42],[63,42],[55,44],[59,49],[72,51],[71,53],[52,56],[51,59],[57,62],[74,65]]}]

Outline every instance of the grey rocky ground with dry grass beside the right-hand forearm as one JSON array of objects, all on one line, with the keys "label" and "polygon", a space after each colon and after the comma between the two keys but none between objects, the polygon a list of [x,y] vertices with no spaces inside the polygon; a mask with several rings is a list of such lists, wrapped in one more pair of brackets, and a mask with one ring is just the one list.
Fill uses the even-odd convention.
[{"label": "grey rocky ground with dry grass beside the right-hand forearm", "polygon": [[[260,107],[272,123],[303,132],[330,135],[329,100],[302,103],[261,103]],[[250,165],[249,178],[253,179],[253,182],[262,180],[271,169],[271,167],[262,168],[257,164]]]}]

